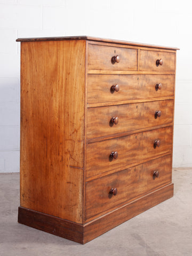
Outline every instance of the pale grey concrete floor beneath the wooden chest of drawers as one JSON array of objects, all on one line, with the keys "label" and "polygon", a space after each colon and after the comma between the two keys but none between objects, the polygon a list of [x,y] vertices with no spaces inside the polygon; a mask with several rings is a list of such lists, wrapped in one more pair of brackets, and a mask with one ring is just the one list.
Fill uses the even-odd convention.
[{"label": "pale grey concrete floor beneath the wooden chest of drawers", "polygon": [[174,197],[81,245],[17,222],[19,174],[0,174],[2,256],[191,256],[192,169],[174,169]]}]

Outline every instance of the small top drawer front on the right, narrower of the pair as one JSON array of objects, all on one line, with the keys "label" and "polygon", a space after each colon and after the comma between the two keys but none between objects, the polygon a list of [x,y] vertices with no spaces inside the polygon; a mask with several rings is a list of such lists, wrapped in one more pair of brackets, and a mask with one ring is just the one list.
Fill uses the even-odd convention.
[{"label": "small top drawer front on the right, narrower of the pair", "polygon": [[[157,60],[163,61],[157,65]],[[140,71],[174,71],[175,53],[140,50]]]}]

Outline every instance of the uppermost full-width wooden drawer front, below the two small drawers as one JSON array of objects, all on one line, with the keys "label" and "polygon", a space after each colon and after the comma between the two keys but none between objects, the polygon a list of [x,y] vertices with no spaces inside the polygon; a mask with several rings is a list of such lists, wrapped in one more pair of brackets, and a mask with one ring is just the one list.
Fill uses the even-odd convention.
[{"label": "uppermost full-width wooden drawer front, below the two small drawers", "polygon": [[121,101],[173,97],[173,92],[174,75],[90,74],[87,78],[88,106],[91,103],[109,102],[112,105]]}]

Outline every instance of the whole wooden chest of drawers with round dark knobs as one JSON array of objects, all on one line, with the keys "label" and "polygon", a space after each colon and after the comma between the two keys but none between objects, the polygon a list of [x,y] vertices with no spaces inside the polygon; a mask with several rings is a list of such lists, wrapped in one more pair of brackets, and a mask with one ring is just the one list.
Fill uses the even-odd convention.
[{"label": "whole wooden chest of drawers with round dark knobs", "polygon": [[173,196],[176,48],[21,42],[18,221],[79,243]]}]

